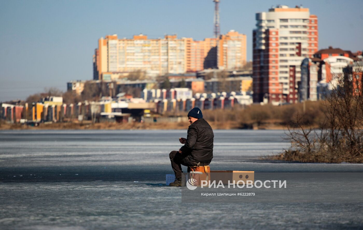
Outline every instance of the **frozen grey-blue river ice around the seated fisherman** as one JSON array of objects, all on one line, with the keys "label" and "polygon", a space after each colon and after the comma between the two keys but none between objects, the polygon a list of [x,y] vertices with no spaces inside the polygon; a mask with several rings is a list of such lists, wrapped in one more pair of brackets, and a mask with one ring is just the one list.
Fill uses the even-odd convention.
[{"label": "frozen grey-blue river ice around the seated fisherman", "polygon": [[[288,148],[284,136],[216,130],[211,169],[363,172],[260,160]],[[186,130],[0,131],[0,229],[363,229],[357,202],[181,202],[181,189],[165,185],[179,137]]]}]

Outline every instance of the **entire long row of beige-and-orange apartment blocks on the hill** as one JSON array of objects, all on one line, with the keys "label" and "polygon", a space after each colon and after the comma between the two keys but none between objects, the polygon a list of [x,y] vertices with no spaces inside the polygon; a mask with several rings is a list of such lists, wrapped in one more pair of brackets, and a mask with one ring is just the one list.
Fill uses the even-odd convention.
[{"label": "entire long row of beige-and-orange apartment blocks on the hill", "polygon": [[109,80],[134,71],[157,76],[207,68],[238,69],[246,63],[246,35],[231,30],[203,41],[176,35],[158,39],[148,39],[143,34],[132,39],[108,35],[98,40],[93,63],[95,80]]}]

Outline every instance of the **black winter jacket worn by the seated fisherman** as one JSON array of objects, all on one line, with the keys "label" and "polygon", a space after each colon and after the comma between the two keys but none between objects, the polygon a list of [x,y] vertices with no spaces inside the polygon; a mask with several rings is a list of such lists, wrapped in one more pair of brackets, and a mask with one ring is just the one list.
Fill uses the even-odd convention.
[{"label": "black winter jacket worn by the seated fisherman", "polygon": [[203,118],[196,120],[188,128],[187,143],[182,153],[190,153],[190,159],[200,163],[210,163],[213,158],[213,130]]}]

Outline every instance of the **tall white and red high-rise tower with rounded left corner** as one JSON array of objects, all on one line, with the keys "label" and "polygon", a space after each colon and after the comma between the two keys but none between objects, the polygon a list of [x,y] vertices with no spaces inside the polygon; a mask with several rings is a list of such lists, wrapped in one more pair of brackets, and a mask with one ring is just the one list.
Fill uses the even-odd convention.
[{"label": "tall white and red high-rise tower with rounded left corner", "polygon": [[253,101],[297,103],[301,63],[318,50],[318,19],[308,8],[278,5],[256,13]]}]

